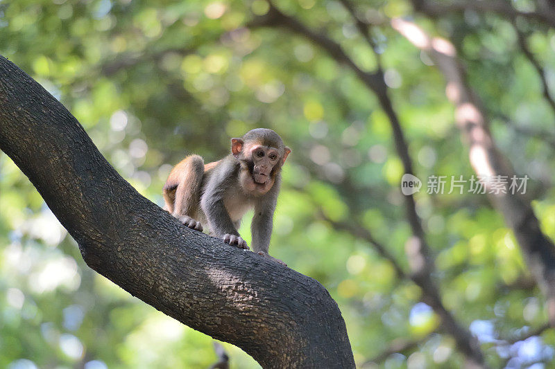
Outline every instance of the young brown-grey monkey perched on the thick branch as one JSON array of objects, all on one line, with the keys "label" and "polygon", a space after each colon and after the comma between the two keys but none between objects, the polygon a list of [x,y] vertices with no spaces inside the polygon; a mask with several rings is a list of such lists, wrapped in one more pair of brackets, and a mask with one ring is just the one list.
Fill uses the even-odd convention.
[{"label": "young brown-grey monkey perched on the thick branch", "polygon": [[253,251],[285,264],[268,255],[268,247],[281,170],[290,152],[279,134],[257,128],[232,138],[231,154],[219,161],[205,164],[198,155],[187,156],[173,167],[164,185],[166,209],[189,228],[203,231],[205,224],[211,235],[248,249],[237,228],[254,208]]}]

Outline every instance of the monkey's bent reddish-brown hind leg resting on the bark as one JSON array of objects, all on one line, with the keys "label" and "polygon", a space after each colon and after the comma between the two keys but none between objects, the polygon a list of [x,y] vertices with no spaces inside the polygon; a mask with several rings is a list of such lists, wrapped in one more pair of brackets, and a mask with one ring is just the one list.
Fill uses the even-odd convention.
[{"label": "monkey's bent reddish-brown hind leg resting on the bark", "polygon": [[198,155],[187,156],[176,168],[178,172],[172,215],[185,226],[203,231],[203,226],[194,219],[198,213],[200,190],[204,174],[204,160]]}]

